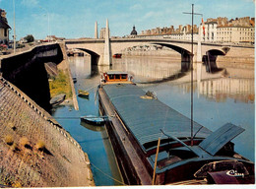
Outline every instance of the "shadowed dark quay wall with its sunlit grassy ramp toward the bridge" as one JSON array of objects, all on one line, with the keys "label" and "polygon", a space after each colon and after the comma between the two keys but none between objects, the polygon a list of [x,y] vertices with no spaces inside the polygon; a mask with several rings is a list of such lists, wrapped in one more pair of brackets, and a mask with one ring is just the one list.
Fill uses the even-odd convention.
[{"label": "shadowed dark quay wall with its sunlit grassy ramp toward the bridge", "polygon": [[[58,76],[59,70],[67,77],[65,89],[58,89],[58,91],[72,96],[75,109],[78,109],[64,43],[35,46],[30,50],[15,55],[11,54],[0,60],[0,75],[29,95],[47,111],[51,108],[48,76]],[[55,85],[55,87],[57,86]]]}]

